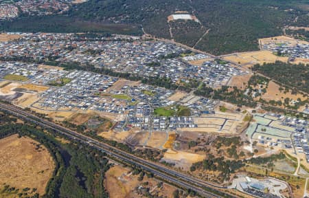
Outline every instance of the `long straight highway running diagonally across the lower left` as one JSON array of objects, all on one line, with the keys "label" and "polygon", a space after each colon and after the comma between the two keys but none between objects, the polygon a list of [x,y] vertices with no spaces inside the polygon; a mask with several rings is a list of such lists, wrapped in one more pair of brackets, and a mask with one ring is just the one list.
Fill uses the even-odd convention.
[{"label": "long straight highway running diagonally across the lower left", "polygon": [[[94,140],[91,137],[82,135],[80,133],[77,133],[76,131],[72,131],[63,126],[55,124],[54,122],[49,122],[47,120],[44,120],[43,118],[39,118],[38,116],[33,115],[32,113],[28,111],[19,109],[18,107],[14,107],[13,105],[4,104],[0,102],[0,109],[3,109],[4,111],[8,111],[12,113],[13,115],[17,115],[30,122],[34,122],[35,124],[44,126],[45,128],[52,129],[58,133],[66,135],[67,137],[73,140],[77,140],[84,144],[93,146],[94,148],[98,148],[100,151],[104,151],[108,155],[115,157],[117,159],[120,159],[124,162],[127,162],[129,164],[134,164],[136,166],[140,166],[144,170],[150,173],[153,173],[155,176],[160,177],[163,180],[170,181],[173,184],[176,184],[186,189],[194,190],[203,197],[211,197],[211,198],[220,197],[219,195],[215,195],[213,192],[208,192],[206,189],[211,188],[215,191],[222,192],[222,190],[226,188],[222,186],[217,186],[215,184],[211,184],[201,179],[197,179],[185,173],[179,173],[176,170],[172,170],[161,164],[150,162],[146,159],[142,159],[130,153],[126,153],[125,151],[119,150],[118,148],[115,148],[109,144],[99,142],[98,140]],[[233,197],[233,196],[228,195],[228,197]]]}]

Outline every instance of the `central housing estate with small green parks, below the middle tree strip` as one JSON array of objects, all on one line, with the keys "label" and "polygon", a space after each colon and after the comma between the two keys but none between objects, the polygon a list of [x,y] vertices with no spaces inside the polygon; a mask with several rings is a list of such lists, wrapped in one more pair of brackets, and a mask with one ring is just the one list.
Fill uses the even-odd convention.
[{"label": "central housing estate with small green parks, below the middle tree strip", "polygon": [[[0,77],[6,80],[22,80],[26,84],[47,86],[45,91],[38,94],[38,100],[30,105],[34,109],[100,111],[121,118],[116,126],[118,131],[127,131],[132,127],[155,131],[196,128],[198,124],[194,118],[214,114],[214,106],[218,104],[215,100],[191,94],[182,96],[179,100],[172,100],[171,96],[176,94],[176,91],[169,89],[141,83],[115,85],[119,81],[115,77],[41,66],[3,62],[0,65]],[[112,86],[113,89],[108,89]],[[16,95],[19,97],[25,90],[14,91],[20,92]],[[187,108],[188,115],[176,115],[178,106]],[[156,115],[154,110],[157,108],[168,108],[175,113]],[[220,127],[223,125],[225,124]]]}]

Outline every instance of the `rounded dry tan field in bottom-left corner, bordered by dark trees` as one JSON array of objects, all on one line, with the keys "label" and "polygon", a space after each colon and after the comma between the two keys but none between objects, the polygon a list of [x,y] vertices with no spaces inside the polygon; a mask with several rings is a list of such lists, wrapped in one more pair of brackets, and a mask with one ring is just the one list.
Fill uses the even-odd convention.
[{"label": "rounded dry tan field in bottom-left corner, bordered by dark trees", "polygon": [[0,140],[1,186],[10,185],[20,190],[37,188],[40,195],[45,193],[55,164],[44,146],[35,149],[38,144],[29,137],[18,138],[17,135]]}]

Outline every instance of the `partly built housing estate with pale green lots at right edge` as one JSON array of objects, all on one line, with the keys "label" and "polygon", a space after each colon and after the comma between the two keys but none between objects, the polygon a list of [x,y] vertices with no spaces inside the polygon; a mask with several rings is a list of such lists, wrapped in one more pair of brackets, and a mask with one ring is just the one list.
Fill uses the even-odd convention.
[{"label": "partly built housing estate with pale green lots at right edge", "polygon": [[247,135],[251,140],[264,145],[293,149],[293,153],[297,155],[306,155],[309,162],[308,120],[275,113],[256,113],[253,119],[255,122],[247,129]]}]

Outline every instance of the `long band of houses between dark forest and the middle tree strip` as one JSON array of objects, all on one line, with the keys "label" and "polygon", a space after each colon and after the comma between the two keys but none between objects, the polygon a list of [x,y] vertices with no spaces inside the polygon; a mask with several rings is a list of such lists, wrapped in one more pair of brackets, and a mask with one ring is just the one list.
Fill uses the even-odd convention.
[{"label": "long band of houses between dark forest and the middle tree strip", "polygon": [[[0,43],[0,54],[5,58],[22,56],[35,60],[60,63],[80,63],[108,68],[114,72],[137,76],[160,76],[174,83],[197,79],[211,87],[227,85],[231,76],[247,74],[229,63],[209,61],[192,65],[188,61],[206,58],[203,54],[189,54],[188,50],[172,43],[159,41],[80,41],[68,39],[74,34],[23,34],[23,39]],[[69,36],[70,37],[70,36]]]}]

